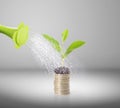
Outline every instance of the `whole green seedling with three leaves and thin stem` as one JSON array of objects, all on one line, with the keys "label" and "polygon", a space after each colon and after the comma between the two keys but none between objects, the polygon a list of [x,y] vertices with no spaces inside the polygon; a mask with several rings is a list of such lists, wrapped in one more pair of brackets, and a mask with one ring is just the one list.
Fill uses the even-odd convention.
[{"label": "whole green seedling with three leaves and thin stem", "polygon": [[76,48],[79,48],[79,47],[81,47],[82,45],[85,44],[84,41],[77,40],[77,41],[72,42],[69,45],[69,47],[64,51],[63,47],[64,47],[64,43],[65,43],[66,39],[68,38],[68,35],[69,35],[68,29],[66,29],[66,30],[64,30],[62,32],[62,36],[61,36],[62,44],[60,45],[60,43],[55,38],[53,38],[52,36],[50,36],[48,34],[42,34],[42,36],[51,43],[51,45],[53,46],[53,48],[55,48],[55,50],[60,53],[61,59],[62,59],[62,63],[61,63],[62,66],[64,66],[64,59],[73,50],[75,50]]}]

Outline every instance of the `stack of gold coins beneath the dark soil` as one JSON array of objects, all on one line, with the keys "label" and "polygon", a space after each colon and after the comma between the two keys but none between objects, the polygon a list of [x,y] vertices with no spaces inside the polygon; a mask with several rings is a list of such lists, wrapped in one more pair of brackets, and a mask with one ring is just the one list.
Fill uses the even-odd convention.
[{"label": "stack of gold coins beneath the dark soil", "polygon": [[54,80],[54,92],[57,95],[68,95],[69,91],[69,74],[56,74]]}]

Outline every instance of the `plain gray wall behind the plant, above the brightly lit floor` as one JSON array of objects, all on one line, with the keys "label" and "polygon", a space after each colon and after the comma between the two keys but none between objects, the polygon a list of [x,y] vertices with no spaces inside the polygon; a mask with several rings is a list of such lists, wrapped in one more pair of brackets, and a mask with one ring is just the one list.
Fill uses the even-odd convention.
[{"label": "plain gray wall behind the plant, above the brightly lit floor", "polygon": [[[87,44],[69,56],[76,68],[120,68],[120,0],[0,0],[0,23],[16,27],[21,21],[31,31],[57,39],[68,28],[66,46],[85,40]],[[16,50],[0,34],[0,69],[11,68],[40,66],[26,46]]]}]

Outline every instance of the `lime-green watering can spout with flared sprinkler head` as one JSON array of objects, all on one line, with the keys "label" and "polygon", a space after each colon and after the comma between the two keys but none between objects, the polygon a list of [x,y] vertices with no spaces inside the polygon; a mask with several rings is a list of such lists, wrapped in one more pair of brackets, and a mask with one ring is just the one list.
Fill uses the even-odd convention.
[{"label": "lime-green watering can spout with flared sprinkler head", "polygon": [[0,33],[10,37],[15,43],[15,47],[19,48],[28,40],[29,28],[24,23],[20,23],[17,28],[0,25]]}]

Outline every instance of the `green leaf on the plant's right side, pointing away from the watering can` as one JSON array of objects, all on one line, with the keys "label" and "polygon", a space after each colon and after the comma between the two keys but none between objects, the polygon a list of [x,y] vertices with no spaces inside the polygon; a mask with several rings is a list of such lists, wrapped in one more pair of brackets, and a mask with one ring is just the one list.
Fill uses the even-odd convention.
[{"label": "green leaf on the plant's right side, pointing away from the watering can", "polygon": [[66,50],[64,54],[64,58],[67,57],[74,49],[81,47],[83,44],[85,44],[84,41],[74,41]]}]

